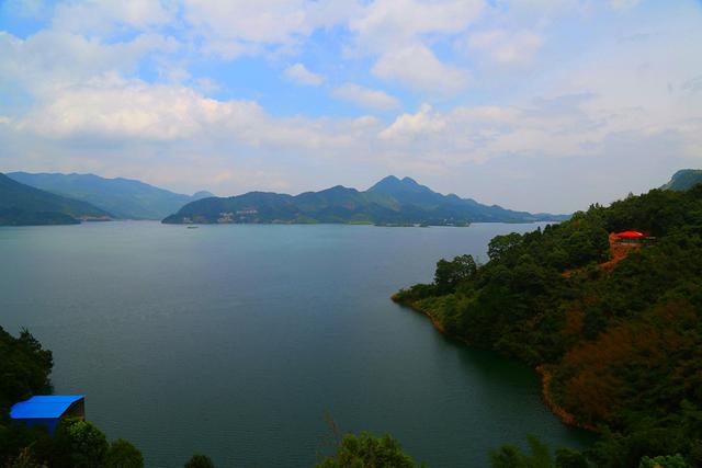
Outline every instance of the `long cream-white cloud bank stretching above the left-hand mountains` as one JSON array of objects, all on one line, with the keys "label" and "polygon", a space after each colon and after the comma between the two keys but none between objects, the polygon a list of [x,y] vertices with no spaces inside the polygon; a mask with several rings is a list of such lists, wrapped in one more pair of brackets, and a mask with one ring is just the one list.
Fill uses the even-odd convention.
[{"label": "long cream-white cloud bank stretching above the left-hand mountains", "polygon": [[251,148],[342,148],[374,119],[273,118],[252,101],[217,101],[179,84],[148,84],[117,76],[63,89],[16,123],[20,132],[70,140],[203,141]]}]

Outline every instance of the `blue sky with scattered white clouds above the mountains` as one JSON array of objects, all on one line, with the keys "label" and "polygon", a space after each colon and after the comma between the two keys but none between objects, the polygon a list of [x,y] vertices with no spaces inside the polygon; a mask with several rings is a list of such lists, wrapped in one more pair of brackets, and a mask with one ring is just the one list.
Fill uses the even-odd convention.
[{"label": "blue sky with scattered white clouds above the mountains", "polygon": [[700,0],[0,1],[0,171],[570,213],[702,168]]}]

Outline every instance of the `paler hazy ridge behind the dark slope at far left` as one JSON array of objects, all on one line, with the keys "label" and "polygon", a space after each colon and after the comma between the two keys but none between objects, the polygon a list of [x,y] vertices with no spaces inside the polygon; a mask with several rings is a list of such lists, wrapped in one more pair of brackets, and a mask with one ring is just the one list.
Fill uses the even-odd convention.
[{"label": "paler hazy ridge behind the dark slope at far left", "polygon": [[190,202],[214,196],[210,192],[182,195],[135,180],[104,179],[93,174],[12,172],[8,176],[36,189],[88,202],[122,219],[162,219]]}]

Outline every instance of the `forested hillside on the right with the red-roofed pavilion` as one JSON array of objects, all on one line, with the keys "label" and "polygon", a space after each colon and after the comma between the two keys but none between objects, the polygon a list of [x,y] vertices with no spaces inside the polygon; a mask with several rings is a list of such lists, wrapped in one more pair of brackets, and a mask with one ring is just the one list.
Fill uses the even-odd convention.
[{"label": "forested hillside on the right with the red-roofed pavilion", "polygon": [[[612,260],[609,233],[629,229],[655,240]],[[602,434],[598,466],[678,453],[702,466],[702,185],[498,236],[488,256],[442,260],[433,284],[394,299],[540,366],[562,419]]]}]

